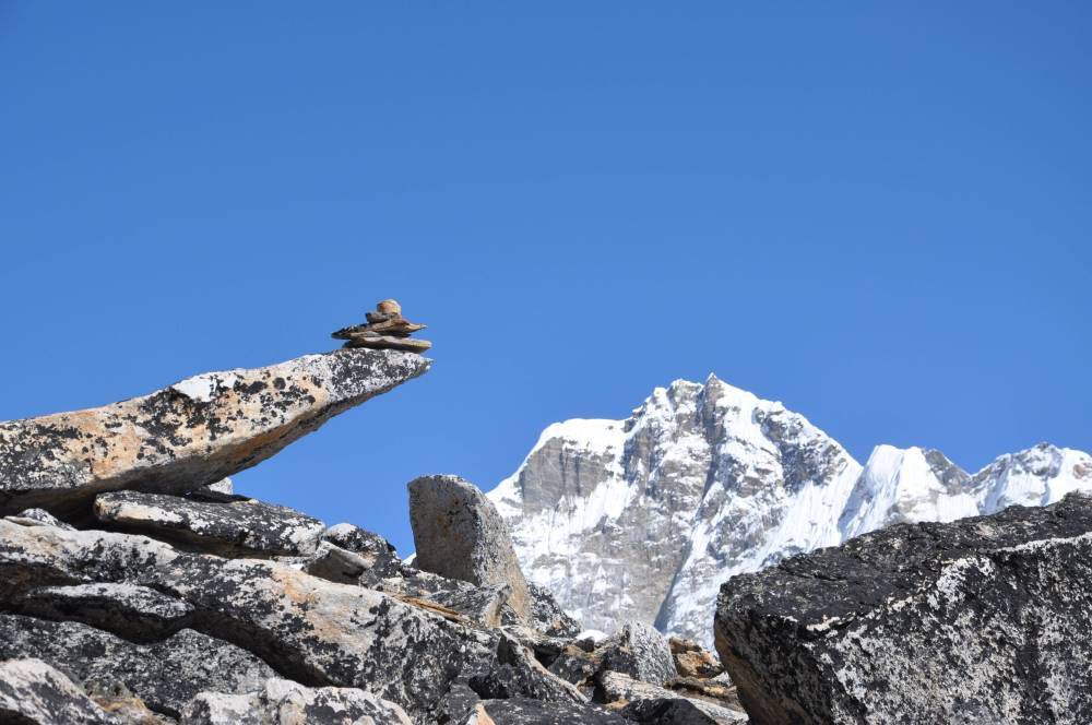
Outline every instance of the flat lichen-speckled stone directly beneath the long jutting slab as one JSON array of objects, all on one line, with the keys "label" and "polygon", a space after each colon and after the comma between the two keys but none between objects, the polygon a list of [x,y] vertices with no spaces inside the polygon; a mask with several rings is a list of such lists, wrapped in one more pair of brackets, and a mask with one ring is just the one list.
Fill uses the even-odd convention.
[{"label": "flat lichen-speckled stone directly beneath the long jutting slab", "polygon": [[104,523],[224,556],[313,554],[325,524],[283,506],[202,491],[189,496],[111,491],[95,498]]}]

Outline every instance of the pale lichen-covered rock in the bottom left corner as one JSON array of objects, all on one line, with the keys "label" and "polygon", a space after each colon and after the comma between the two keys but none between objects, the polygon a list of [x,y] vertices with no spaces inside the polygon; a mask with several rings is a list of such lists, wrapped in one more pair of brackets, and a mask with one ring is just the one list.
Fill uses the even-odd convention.
[{"label": "pale lichen-covered rock in the bottom left corner", "polygon": [[40,659],[0,662],[0,723],[122,725]]}]

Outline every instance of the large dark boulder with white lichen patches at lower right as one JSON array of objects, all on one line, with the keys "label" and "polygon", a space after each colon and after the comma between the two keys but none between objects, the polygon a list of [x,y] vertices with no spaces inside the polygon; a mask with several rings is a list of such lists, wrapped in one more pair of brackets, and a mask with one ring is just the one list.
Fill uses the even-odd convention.
[{"label": "large dark boulder with white lichen patches at lower right", "polygon": [[728,580],[751,722],[1092,722],[1092,498],[900,524]]}]

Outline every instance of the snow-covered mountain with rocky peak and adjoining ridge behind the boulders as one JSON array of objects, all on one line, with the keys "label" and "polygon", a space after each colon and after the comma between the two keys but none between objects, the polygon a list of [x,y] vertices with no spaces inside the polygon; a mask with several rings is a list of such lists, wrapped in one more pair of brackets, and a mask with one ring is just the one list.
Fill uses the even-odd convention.
[{"label": "snow-covered mountain with rocky peak and adjoining ridge behind the boulders", "polygon": [[543,431],[489,497],[517,554],[585,627],[638,619],[711,639],[728,577],[902,521],[951,521],[1092,490],[1092,456],[1040,444],[969,475],[880,445],[860,466],[781,403],[714,376],[657,388],[626,420]]}]

